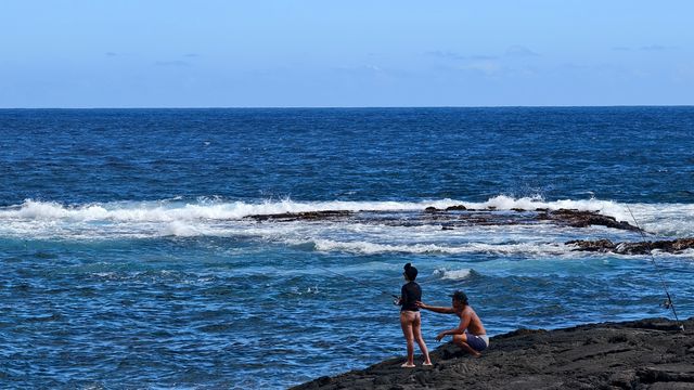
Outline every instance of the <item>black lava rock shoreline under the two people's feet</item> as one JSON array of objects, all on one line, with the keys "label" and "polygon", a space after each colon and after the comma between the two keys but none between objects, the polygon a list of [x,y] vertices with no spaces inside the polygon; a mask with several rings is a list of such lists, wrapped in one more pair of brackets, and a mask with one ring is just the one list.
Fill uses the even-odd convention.
[{"label": "black lava rock shoreline under the two people's feet", "polygon": [[397,358],[293,389],[694,389],[694,317],[683,326],[647,318],[519,329],[492,337],[479,359],[447,343],[430,368],[401,368]]}]

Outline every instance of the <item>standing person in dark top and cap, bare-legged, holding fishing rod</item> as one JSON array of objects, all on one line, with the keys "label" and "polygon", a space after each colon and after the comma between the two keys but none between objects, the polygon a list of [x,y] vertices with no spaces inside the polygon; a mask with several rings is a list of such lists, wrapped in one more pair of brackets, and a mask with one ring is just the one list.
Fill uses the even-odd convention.
[{"label": "standing person in dark top and cap, bare-legged, holding fishing rod", "polygon": [[422,316],[420,314],[420,308],[416,306],[416,301],[422,300],[422,288],[414,282],[417,271],[411,263],[404,264],[404,280],[408,282],[402,286],[400,290],[400,300],[398,304],[401,304],[400,309],[400,326],[402,326],[402,334],[404,340],[408,343],[408,361],[401,365],[401,367],[414,367],[414,341],[420,346],[420,351],[424,354],[425,366],[430,366],[429,351],[426,349],[426,343],[422,338]]}]

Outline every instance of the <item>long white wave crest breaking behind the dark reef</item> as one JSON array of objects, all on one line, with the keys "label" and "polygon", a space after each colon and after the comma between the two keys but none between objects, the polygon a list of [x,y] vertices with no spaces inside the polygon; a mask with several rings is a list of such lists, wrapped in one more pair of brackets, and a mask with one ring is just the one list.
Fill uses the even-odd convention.
[{"label": "long white wave crest breaking behind the dark reef", "polygon": [[[38,202],[27,199],[24,204],[0,209],[0,219],[68,219],[74,221],[150,221],[170,222],[176,220],[233,220],[252,214],[274,214],[284,212],[306,212],[326,210],[348,211],[416,211],[426,207],[444,209],[450,206],[463,205],[471,209],[498,210],[522,208],[535,210],[537,208],[578,209],[597,211],[612,216],[618,220],[631,221],[627,207],[612,200],[554,200],[545,202],[540,197],[524,197],[514,199],[499,195],[484,203],[468,203],[453,199],[422,200],[422,202],[294,202],[284,199],[279,202],[244,203],[244,202],[198,202],[182,203],[177,200],[160,202],[115,202],[105,204],[88,204],[66,206],[55,202]],[[632,205],[632,210],[641,210],[646,205]],[[650,206],[650,205],[648,205]],[[694,205],[653,205],[656,210],[665,208],[674,212],[686,211],[694,213]],[[647,210],[642,210],[647,211]]]}]

